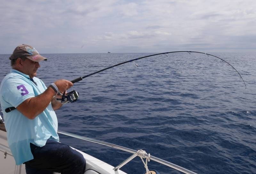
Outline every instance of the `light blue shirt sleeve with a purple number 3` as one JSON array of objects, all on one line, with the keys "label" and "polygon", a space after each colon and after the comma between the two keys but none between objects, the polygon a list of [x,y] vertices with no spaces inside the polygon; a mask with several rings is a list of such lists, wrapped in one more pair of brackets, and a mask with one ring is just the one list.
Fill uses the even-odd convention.
[{"label": "light blue shirt sleeve with a purple number 3", "polygon": [[31,84],[24,77],[10,77],[4,82],[3,98],[10,105],[17,107],[28,98],[35,97]]}]

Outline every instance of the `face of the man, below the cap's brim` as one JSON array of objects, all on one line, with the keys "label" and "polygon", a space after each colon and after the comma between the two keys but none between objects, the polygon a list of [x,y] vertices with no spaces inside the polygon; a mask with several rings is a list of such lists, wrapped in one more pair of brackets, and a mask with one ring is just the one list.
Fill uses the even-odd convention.
[{"label": "face of the man, below the cap's brim", "polygon": [[24,74],[27,74],[30,78],[33,78],[36,76],[36,71],[39,67],[39,62],[34,62],[27,58],[23,61],[22,70]]}]

